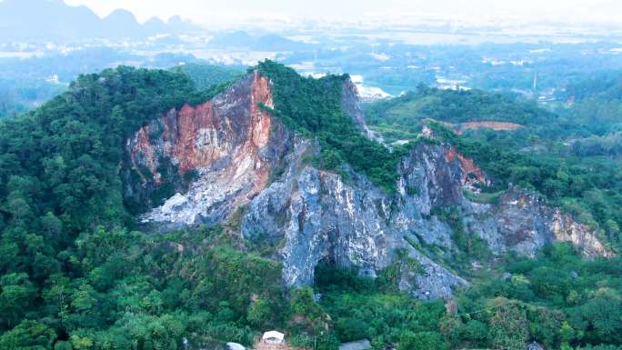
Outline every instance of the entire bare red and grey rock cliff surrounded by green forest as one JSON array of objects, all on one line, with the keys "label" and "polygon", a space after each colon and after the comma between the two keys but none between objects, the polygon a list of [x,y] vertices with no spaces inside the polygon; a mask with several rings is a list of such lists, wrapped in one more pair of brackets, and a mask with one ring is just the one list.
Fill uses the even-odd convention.
[{"label": "entire bare red and grey rock cliff surrounded by green forest", "polygon": [[[348,165],[327,171],[313,161],[317,141],[272,113],[274,84],[254,71],[126,141],[125,196],[142,198],[146,227],[236,221],[236,235],[272,248],[285,285],[313,284],[320,262],[369,276],[396,267],[399,289],[420,299],[448,298],[469,285],[459,255],[477,265],[506,252],[533,256],[553,241],[571,242],[587,257],[614,255],[535,193],[511,186],[495,200],[477,200],[477,184],[490,179],[431,130],[399,161],[395,192]],[[356,86],[346,80],[341,89],[342,110],[375,138]]]}]

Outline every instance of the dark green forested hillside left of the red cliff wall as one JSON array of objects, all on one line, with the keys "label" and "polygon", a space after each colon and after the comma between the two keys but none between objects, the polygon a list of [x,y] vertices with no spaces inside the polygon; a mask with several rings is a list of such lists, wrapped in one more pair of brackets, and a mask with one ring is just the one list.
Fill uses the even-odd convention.
[{"label": "dark green forested hillside left of the red cliff wall", "polygon": [[121,145],[150,119],[193,94],[184,75],[120,67],[82,75],[65,94],[3,121],[0,200],[5,232],[14,232],[17,240],[26,233],[47,232],[41,238],[61,251],[81,231],[124,223],[128,216],[116,175]]}]

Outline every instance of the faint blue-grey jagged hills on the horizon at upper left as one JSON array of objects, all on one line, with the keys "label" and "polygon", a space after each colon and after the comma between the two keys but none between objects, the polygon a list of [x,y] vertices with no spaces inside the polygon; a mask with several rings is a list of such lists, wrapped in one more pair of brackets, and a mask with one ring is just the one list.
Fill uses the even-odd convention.
[{"label": "faint blue-grey jagged hills on the horizon at upper left", "polygon": [[4,0],[0,2],[0,41],[63,41],[93,38],[142,38],[196,29],[173,17],[168,24],[152,18],[141,25],[126,10],[100,18],[86,6],[63,0]]}]

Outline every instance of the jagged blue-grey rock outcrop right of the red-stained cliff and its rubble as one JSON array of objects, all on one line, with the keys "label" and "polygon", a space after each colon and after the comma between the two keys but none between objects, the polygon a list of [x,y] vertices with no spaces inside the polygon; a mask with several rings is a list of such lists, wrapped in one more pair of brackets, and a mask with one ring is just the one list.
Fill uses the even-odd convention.
[{"label": "jagged blue-grey rock outcrop right of the red-stained cliff and its rubble", "polygon": [[[308,145],[297,146],[301,147]],[[292,158],[299,159],[296,154],[304,152],[299,149]],[[398,193],[389,195],[364,176],[352,173],[344,183],[338,175],[295,162],[281,181],[251,203],[242,234],[252,241],[282,242],[286,285],[311,284],[315,266],[326,258],[376,275],[396,263],[398,250],[405,250],[423,273],[404,272],[399,287],[424,299],[448,297],[468,285],[428,258],[420,245],[412,245],[436,245],[447,251],[454,247],[453,229],[433,215],[436,208],[459,208],[467,234],[481,236],[497,254],[513,250],[534,255],[554,239],[570,240],[560,232],[575,237],[587,255],[610,254],[586,227],[574,224],[576,230],[568,231],[560,226],[555,211],[536,195],[509,191],[498,205],[469,202],[462,192],[465,164],[472,163],[450,146],[419,145],[400,165]],[[584,241],[579,242],[579,236]]]}]

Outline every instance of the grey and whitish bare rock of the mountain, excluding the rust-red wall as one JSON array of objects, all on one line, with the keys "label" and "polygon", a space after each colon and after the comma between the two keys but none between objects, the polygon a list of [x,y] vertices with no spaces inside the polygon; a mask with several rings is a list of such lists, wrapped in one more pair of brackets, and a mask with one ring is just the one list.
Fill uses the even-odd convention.
[{"label": "grey and whitish bare rock of the mountain, excluding the rust-red wall", "polygon": [[[236,97],[234,91],[244,93]],[[145,220],[160,226],[215,224],[242,205],[246,211],[240,235],[253,244],[275,247],[275,258],[283,262],[285,285],[311,285],[321,261],[372,277],[398,266],[399,289],[420,299],[450,298],[469,285],[446,264],[459,249],[452,239],[456,227],[443,217],[449,210],[460,215],[465,235],[483,239],[494,255],[514,251],[533,256],[554,240],[572,242],[587,256],[613,255],[587,226],[547,206],[536,194],[511,187],[495,203],[467,199],[465,191],[474,188],[474,177],[488,180],[473,161],[450,145],[425,140],[416,145],[398,165],[396,193],[387,193],[351,169],[345,170],[347,180],[317,169],[308,161],[317,152],[314,142],[287,134],[277,121],[270,121],[272,131],[264,130],[257,145],[253,128],[262,127],[269,115],[255,115],[259,112],[252,108],[229,115],[224,107],[236,105],[236,98],[246,98],[242,105],[252,106],[253,95],[246,91],[253,89],[236,86],[229,95],[215,99],[224,108],[216,116],[243,126],[237,131],[217,128],[220,134],[216,135],[222,136],[206,149],[214,150],[218,140],[233,140],[226,144],[230,152],[219,153],[209,162],[196,161],[201,165],[199,177],[186,193],[169,198]],[[271,101],[269,95],[264,98]],[[361,132],[373,138],[356,89],[346,84],[342,99]],[[136,136],[128,144],[138,145],[138,141]],[[149,147],[141,149],[148,155]],[[246,156],[246,150],[252,157]]]}]

